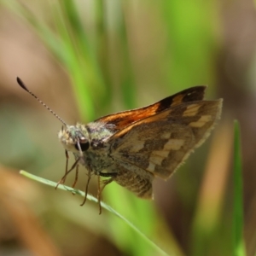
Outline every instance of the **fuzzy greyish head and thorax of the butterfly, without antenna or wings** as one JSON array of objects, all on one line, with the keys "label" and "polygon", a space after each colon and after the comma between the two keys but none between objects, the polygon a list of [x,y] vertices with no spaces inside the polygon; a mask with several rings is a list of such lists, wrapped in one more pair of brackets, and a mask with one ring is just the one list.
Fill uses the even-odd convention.
[{"label": "fuzzy greyish head and thorax of the butterfly, without antenna or wings", "polygon": [[73,152],[76,159],[80,158],[79,164],[98,175],[113,165],[109,145],[106,143],[112,135],[113,131],[105,125],[92,122],[88,125],[64,126],[58,137],[67,151]]}]

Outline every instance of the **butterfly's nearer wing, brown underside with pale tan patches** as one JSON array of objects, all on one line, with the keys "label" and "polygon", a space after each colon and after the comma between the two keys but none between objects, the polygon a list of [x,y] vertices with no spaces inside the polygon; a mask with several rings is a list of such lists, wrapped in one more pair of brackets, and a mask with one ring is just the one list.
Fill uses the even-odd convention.
[{"label": "butterfly's nearer wing, brown underside with pale tan patches", "polygon": [[142,119],[108,139],[114,160],[162,178],[203,143],[221,113],[222,100],[187,102]]}]

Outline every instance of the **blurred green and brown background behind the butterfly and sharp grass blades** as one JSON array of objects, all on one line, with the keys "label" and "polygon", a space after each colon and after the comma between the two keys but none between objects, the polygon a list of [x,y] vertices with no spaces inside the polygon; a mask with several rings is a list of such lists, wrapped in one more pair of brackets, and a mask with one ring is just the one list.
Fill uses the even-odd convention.
[{"label": "blurred green and brown background behind the butterfly and sharp grass blades", "polygon": [[[113,183],[103,201],[170,255],[231,255],[238,119],[244,239],[255,255],[255,46],[249,0],[0,0],[0,255],[161,255],[113,214],[99,216],[96,203],[80,207],[82,197],[19,174],[57,182],[66,160],[60,121],[17,76],[68,124],[208,84],[207,99],[224,98],[224,111],[207,142],[171,179],[154,182],[154,201]],[[81,168],[77,187],[85,182]]]}]

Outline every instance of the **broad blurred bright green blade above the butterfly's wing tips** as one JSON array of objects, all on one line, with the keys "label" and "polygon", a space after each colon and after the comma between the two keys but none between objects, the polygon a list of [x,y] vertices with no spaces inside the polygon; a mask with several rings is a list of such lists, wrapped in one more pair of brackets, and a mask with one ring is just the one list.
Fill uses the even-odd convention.
[{"label": "broad blurred bright green blade above the butterfly's wing tips", "polygon": [[[162,17],[170,31],[166,34],[167,45],[171,45],[166,55],[172,56],[167,59],[169,86],[178,90],[184,84],[198,84],[199,81],[213,84],[214,56],[218,49],[215,33],[219,26],[216,2],[188,2],[185,8],[181,1],[161,3]],[[195,27],[198,30],[195,31]],[[198,68],[203,73],[196,72]]]}]

